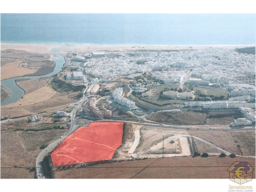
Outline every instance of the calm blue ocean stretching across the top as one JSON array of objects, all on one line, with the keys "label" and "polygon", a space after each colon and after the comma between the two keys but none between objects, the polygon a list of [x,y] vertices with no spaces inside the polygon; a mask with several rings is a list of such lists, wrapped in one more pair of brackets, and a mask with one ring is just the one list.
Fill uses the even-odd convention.
[{"label": "calm blue ocean stretching across the top", "polygon": [[0,13],[0,42],[255,45],[255,13]]}]

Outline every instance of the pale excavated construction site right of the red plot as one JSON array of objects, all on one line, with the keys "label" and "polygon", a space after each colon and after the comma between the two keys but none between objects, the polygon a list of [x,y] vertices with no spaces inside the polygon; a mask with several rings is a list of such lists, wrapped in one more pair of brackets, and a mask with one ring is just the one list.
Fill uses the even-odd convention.
[{"label": "pale excavated construction site right of the red plot", "polygon": [[129,123],[124,131],[123,145],[114,156],[117,159],[191,156],[196,151],[194,143],[189,140],[188,131]]}]

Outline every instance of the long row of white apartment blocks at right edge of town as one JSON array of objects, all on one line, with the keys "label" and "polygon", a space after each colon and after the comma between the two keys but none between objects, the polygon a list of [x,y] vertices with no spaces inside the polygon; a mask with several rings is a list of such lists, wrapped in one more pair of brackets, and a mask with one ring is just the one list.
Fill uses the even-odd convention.
[{"label": "long row of white apartment blocks at right edge of town", "polygon": [[256,108],[256,103],[246,101],[190,101],[185,107],[203,107],[204,109],[238,109],[239,107]]}]

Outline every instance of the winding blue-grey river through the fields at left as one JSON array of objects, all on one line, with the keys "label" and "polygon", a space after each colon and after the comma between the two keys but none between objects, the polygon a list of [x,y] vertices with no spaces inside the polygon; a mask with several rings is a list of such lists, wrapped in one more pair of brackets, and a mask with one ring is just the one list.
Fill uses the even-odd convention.
[{"label": "winding blue-grey river through the fields at left", "polygon": [[51,77],[51,76],[53,76],[55,74],[60,73],[60,71],[62,70],[62,67],[63,67],[63,65],[65,63],[65,59],[62,56],[60,56],[60,57],[53,57],[53,59],[56,62],[56,65],[55,65],[54,71],[52,73],[50,73],[50,74],[40,75],[40,76],[14,77],[14,78],[3,80],[0,84],[11,91],[11,97],[9,99],[3,101],[3,102],[0,102],[0,107],[5,106],[5,105],[9,105],[11,103],[14,103],[14,102],[22,99],[23,95],[25,94],[25,91],[22,90],[17,85],[17,83],[15,82],[16,80]]}]

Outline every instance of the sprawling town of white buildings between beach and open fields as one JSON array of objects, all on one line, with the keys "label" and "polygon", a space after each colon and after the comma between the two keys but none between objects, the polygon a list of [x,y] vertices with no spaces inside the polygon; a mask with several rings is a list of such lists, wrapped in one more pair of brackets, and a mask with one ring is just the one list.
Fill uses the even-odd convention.
[{"label": "sprawling town of white buildings between beach and open fields", "polygon": [[[113,107],[97,105],[102,96],[105,101],[107,96],[105,104],[122,106],[124,111],[137,116],[149,115],[148,111],[155,110],[145,103],[158,106],[158,111],[169,108],[250,108],[251,115],[244,123],[256,122],[253,54],[217,47],[166,51],[141,48],[134,51],[73,52],[65,59],[65,80],[74,85],[89,86],[85,94],[90,100],[82,109],[84,117],[103,119],[113,116]],[[118,87],[118,82],[127,86]]]}]

